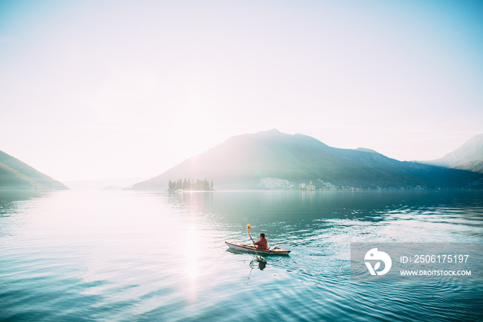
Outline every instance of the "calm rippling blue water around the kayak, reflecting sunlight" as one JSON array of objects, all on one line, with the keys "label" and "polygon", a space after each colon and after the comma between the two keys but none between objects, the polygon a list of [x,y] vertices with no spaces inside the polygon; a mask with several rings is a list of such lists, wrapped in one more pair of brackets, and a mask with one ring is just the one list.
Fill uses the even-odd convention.
[{"label": "calm rippling blue water around the kayak, reflecting sunlight", "polygon": [[[292,253],[228,252],[247,223]],[[483,283],[351,283],[351,242],[481,243],[483,193],[1,192],[0,320],[483,319]]]}]

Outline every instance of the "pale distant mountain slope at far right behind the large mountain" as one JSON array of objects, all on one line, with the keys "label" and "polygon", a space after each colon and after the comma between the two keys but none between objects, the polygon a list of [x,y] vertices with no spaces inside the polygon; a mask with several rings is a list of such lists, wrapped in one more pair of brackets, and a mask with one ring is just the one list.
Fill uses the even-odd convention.
[{"label": "pale distant mountain slope at far right behind the large mountain", "polygon": [[424,163],[483,173],[483,134],[474,136],[443,158]]}]

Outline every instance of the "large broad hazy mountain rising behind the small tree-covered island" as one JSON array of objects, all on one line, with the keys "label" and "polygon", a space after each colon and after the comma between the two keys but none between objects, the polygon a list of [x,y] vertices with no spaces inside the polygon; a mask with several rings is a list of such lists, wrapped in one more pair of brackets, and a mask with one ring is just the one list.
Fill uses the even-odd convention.
[{"label": "large broad hazy mountain rising behind the small tree-covered island", "polygon": [[139,182],[136,190],[166,190],[169,180],[206,178],[215,189],[298,187],[483,187],[483,175],[417,162],[401,162],[368,149],[337,149],[302,134],[277,130],[237,135]]}]

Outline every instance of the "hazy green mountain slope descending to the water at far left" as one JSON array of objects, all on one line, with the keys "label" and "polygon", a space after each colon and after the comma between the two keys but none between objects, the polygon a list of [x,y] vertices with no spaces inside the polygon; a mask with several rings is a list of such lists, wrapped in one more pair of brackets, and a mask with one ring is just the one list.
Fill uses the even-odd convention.
[{"label": "hazy green mountain slope descending to the water at far left", "polygon": [[1,190],[68,190],[59,181],[0,151]]}]

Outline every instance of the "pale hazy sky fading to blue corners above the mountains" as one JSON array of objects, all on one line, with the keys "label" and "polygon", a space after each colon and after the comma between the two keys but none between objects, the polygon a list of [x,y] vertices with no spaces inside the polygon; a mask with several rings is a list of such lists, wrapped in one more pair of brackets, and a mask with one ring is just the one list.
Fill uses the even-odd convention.
[{"label": "pale hazy sky fading to blue corners above the mountains", "polygon": [[483,1],[0,1],[0,150],[52,178],[274,128],[397,160],[483,133]]}]

